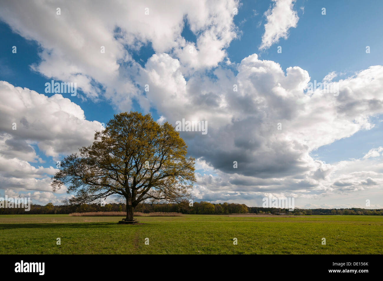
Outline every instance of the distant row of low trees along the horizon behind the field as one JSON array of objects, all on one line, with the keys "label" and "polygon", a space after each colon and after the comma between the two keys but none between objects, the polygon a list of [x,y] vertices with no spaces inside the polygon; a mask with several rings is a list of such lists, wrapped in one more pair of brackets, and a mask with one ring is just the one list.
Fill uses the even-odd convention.
[{"label": "distant row of low trees along the horizon behind the field", "polygon": [[[245,204],[194,202],[189,206],[189,202],[179,204],[140,204],[136,207],[136,212],[152,213],[182,213],[197,215],[221,215],[221,214],[292,214],[292,215],[383,215],[383,209],[294,209],[289,212],[288,209],[247,207]],[[53,205],[48,203],[45,206],[31,204],[31,210],[16,208],[0,208],[0,215],[15,214],[70,214],[84,212],[126,212],[126,205],[123,203],[112,203],[101,206],[100,204],[82,204],[77,206]]]}]

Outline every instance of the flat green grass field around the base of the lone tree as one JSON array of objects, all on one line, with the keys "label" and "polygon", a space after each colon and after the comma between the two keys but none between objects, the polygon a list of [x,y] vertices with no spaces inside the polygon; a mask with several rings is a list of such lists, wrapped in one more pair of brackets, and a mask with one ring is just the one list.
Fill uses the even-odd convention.
[{"label": "flat green grass field around the base of the lone tree", "polygon": [[382,216],[183,215],[118,225],[120,219],[0,215],[0,254],[383,253]]}]

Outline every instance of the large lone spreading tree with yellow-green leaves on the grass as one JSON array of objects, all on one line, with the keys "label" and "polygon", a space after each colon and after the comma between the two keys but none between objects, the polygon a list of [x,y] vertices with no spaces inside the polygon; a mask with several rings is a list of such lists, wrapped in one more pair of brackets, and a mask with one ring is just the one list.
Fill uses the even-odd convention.
[{"label": "large lone spreading tree with yellow-green leaves on the grass", "polygon": [[[181,202],[193,188],[194,158],[168,122],[159,125],[150,114],[119,113],[94,142],[61,161],[52,177],[53,191],[67,186],[71,204],[97,202],[112,194],[126,199],[126,219],[142,201]],[[98,201],[99,202],[99,201]]]}]

